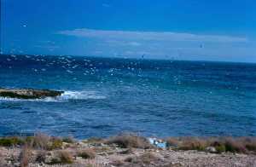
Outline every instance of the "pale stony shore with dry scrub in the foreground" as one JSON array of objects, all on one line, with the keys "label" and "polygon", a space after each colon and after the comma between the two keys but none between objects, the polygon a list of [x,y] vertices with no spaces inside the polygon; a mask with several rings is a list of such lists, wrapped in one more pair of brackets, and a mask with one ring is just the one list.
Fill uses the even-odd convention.
[{"label": "pale stony shore with dry scrub in the foreground", "polygon": [[[168,140],[166,139],[167,147],[158,147],[155,143],[161,141],[152,143],[143,136],[131,134],[83,141],[43,134],[26,138],[2,138],[0,166],[256,166],[255,141],[247,141],[255,144],[250,145],[251,149],[245,148],[248,152],[243,152],[243,146],[238,143],[238,139],[232,139],[236,143],[226,143],[226,150],[218,152],[218,145],[221,145],[219,140],[212,141],[215,142],[215,147],[208,147],[202,145],[199,138],[189,138],[190,144],[186,144],[188,149],[184,148],[187,142],[185,139],[178,141],[183,142],[183,148],[178,148],[173,138]],[[249,137],[244,140],[255,139]]]}]

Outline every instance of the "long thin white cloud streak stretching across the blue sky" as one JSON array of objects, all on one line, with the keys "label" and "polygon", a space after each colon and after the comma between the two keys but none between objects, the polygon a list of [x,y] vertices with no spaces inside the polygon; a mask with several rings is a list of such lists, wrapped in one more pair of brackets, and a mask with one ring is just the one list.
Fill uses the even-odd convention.
[{"label": "long thin white cloud streak stretching across the blue sky", "polygon": [[[74,29],[57,32],[58,34],[75,37],[94,37],[105,40],[144,40],[144,41],[183,41],[183,42],[213,42],[213,43],[245,43],[247,37],[232,37],[221,35],[197,35],[180,32],[131,32],[94,29]],[[135,44],[136,45],[136,44]]]}]

